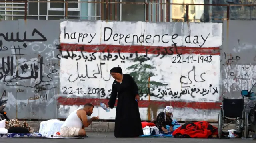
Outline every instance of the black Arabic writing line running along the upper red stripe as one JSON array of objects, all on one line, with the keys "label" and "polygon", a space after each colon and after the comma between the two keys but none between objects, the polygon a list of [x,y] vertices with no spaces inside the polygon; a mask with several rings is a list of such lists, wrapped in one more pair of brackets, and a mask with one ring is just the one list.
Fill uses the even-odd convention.
[{"label": "black Arabic writing line running along the upper red stripe", "polygon": [[[121,54],[120,50],[117,51],[117,53],[110,53],[110,50],[107,49],[106,51],[102,51],[102,53],[100,52],[88,52],[88,54],[86,54],[87,52],[85,51],[84,46],[79,47],[77,50],[75,51],[80,51],[80,54],[74,53],[75,51],[63,51],[63,47],[61,47],[60,45],[56,45],[57,49],[59,49],[60,53],[57,55],[58,59],[61,58],[65,58],[65,59],[72,59],[72,60],[81,60],[83,59],[85,62],[89,61],[95,61],[97,60],[97,58],[99,58],[101,61],[116,61],[118,58],[121,59],[121,62],[123,63],[124,60],[131,60],[134,61],[136,59],[138,59],[139,55],[138,52],[135,51],[135,53],[130,53],[129,56],[124,56]],[[174,53],[177,53],[178,55],[182,55],[182,53],[178,52],[178,48],[176,46],[176,44],[174,44],[172,47],[169,48],[164,48],[164,51],[161,51],[160,48],[156,48],[154,50],[154,55],[152,55],[151,57],[148,57],[148,49],[145,48],[145,54],[143,55],[146,59],[150,60],[154,57],[159,57],[160,55],[160,59],[164,58],[166,55],[174,55]]]}]

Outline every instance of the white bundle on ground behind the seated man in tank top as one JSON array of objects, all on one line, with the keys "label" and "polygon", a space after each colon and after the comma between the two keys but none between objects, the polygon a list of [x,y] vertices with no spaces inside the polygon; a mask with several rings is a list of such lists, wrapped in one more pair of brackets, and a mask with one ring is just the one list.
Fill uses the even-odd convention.
[{"label": "white bundle on ground behind the seated man in tank top", "polygon": [[48,121],[42,121],[40,123],[39,133],[42,136],[51,137],[56,132],[60,131],[60,127],[63,125],[64,121],[58,119],[50,119]]}]

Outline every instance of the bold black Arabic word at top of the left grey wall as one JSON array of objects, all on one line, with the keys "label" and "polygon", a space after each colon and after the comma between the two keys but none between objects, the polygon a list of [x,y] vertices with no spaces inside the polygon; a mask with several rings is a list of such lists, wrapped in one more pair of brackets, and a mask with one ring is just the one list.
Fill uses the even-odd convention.
[{"label": "bold black Arabic word at top of the left grey wall", "polygon": [[[12,32],[10,35],[7,32],[5,35],[3,33],[0,33],[0,37],[3,37],[5,41],[12,41],[12,42],[45,42],[47,41],[47,38],[44,37],[42,33],[40,33],[36,28],[32,31],[31,36],[34,36],[35,34],[38,34],[42,39],[27,39],[27,32],[24,32],[23,39],[20,39],[19,32],[16,33],[16,38],[14,38],[14,33]],[[10,39],[9,39],[10,37]]]}]

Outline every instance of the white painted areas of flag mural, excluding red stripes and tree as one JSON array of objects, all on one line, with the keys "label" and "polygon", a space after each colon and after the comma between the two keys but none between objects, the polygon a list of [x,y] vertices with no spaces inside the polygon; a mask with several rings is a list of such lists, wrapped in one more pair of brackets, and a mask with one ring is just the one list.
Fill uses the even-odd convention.
[{"label": "white painted areas of flag mural, excluding red stripes and tree", "polygon": [[[174,28],[174,25],[176,23],[170,23],[168,27],[163,27],[161,23],[148,23],[148,22],[104,22],[104,21],[97,21],[97,22],[61,22],[60,24],[60,43],[68,43],[68,44],[81,44],[81,45],[101,45],[101,44],[107,44],[107,45],[143,45],[143,46],[171,46],[172,43],[172,35],[175,33],[169,33],[169,35],[166,33],[168,29]],[[184,23],[186,24],[186,23]],[[168,43],[163,42],[155,42],[153,43],[153,39],[151,40],[151,43],[125,43],[124,39],[119,41],[114,41],[113,38],[110,38],[108,41],[104,41],[104,35],[109,36],[110,33],[106,32],[104,33],[105,27],[111,27],[113,29],[113,33],[123,34],[124,37],[128,34],[137,34],[142,35],[144,33],[144,40],[146,35],[154,35],[158,34],[160,36],[164,36],[164,41],[169,41]],[[76,39],[65,39],[64,37],[64,29],[66,33],[76,32],[75,37]],[[179,29],[181,35],[178,35],[176,39],[173,39],[174,42],[177,43],[177,46],[187,46],[187,47],[200,47],[204,42],[204,45],[202,47],[220,47],[222,45],[222,24],[220,23],[190,23],[189,26],[184,25],[182,29]],[[199,36],[198,42],[199,44],[187,44],[185,42],[185,37],[189,34],[189,31],[191,31],[191,37]],[[86,38],[84,38],[84,41],[81,41],[81,37],[83,35],[88,34]],[[80,38],[79,38],[80,35]],[[114,34],[112,34],[113,36]],[[202,37],[204,39],[202,39]],[[208,37],[207,37],[208,36]],[[207,38],[206,38],[207,37]],[[78,41],[79,39],[79,41]],[[206,40],[205,40],[206,39]],[[131,39],[128,39],[131,40]],[[88,43],[88,41],[91,41]],[[65,55],[65,52],[62,52]],[[74,52],[77,56],[81,56],[80,52]],[[90,53],[86,53],[86,55],[89,55]],[[121,55],[124,55],[127,57],[130,53],[121,53]],[[112,53],[112,56],[118,55],[118,53]],[[142,55],[142,54],[139,54]],[[144,55],[144,54],[143,54]],[[139,62],[133,62],[125,60],[125,63],[121,63],[120,58],[118,58],[116,61],[101,61],[98,57],[100,56],[100,53],[96,53],[95,56],[97,59],[92,62],[84,62],[84,60],[72,60],[72,59],[64,59],[62,58],[60,61],[60,90],[61,93],[64,92],[65,88],[67,89],[66,92],[70,92],[72,89],[76,90],[77,88],[83,88],[85,92],[88,92],[88,88],[104,88],[106,91],[106,94],[110,94],[108,90],[112,87],[112,82],[114,81],[113,78],[111,78],[109,81],[104,81],[105,79],[108,79],[110,77],[110,69],[112,67],[120,66],[123,69],[124,73],[130,73],[132,70],[127,70],[126,68],[134,65],[139,64]],[[149,54],[148,57],[152,57],[152,54]],[[220,92],[219,92],[219,85],[220,85],[220,56],[219,55],[211,55],[211,61],[210,62],[204,62],[198,63],[198,56],[201,55],[188,55],[184,54],[181,57],[181,61],[185,61],[187,57],[192,57],[196,59],[197,61],[194,61],[193,63],[172,63],[172,60],[177,55],[166,55],[164,58],[160,59],[159,57],[150,58],[152,60],[146,61],[144,64],[149,64],[155,67],[155,69],[145,72],[153,72],[156,76],[151,77],[150,80],[161,82],[164,84],[168,84],[168,86],[162,86],[160,87],[161,90],[166,90],[167,88],[171,88],[173,92],[180,92],[183,85],[180,83],[180,77],[186,76],[182,82],[190,82],[188,80],[188,76],[192,80],[192,84],[190,85],[192,88],[196,87],[201,89],[209,89],[209,85],[211,84],[212,87],[216,87],[216,90],[218,93],[213,94],[213,90],[209,92],[207,95],[202,96],[202,94],[194,93],[192,97],[189,94],[182,95],[180,98],[171,98],[171,96],[164,96],[163,98],[159,99],[156,97],[150,97],[150,100],[184,100],[184,101],[196,101],[196,102],[218,102]],[[210,55],[203,55],[205,58],[206,56]],[[97,78],[78,78],[75,80],[79,74],[83,74],[84,76],[88,74],[88,76],[92,77],[94,73],[98,72],[98,65],[100,65],[100,62],[104,62],[105,65],[102,65],[100,74],[95,74]],[[77,64],[78,64],[78,70],[77,70]],[[98,65],[97,65],[98,64]],[[87,65],[87,69],[86,69]],[[195,67],[195,72],[190,72],[188,75],[188,72],[193,69],[193,66]],[[88,73],[86,73],[86,70],[88,70]],[[205,74],[202,74],[205,73]],[[102,77],[101,77],[102,74]],[[195,74],[195,79],[194,79]],[[200,75],[202,74],[202,78]],[[85,81],[80,81],[80,79],[84,79]],[[204,79],[204,82],[195,82],[196,81],[202,81]],[[72,81],[72,82],[69,82]],[[74,82],[73,82],[74,81]],[[194,86],[193,86],[194,85]],[[145,85],[147,87],[147,85]],[[190,88],[191,90],[191,88]],[[66,94],[67,97],[70,97],[72,95],[81,96],[84,97],[82,94],[72,93],[72,94]],[[106,98],[100,97],[100,95],[92,94],[90,97],[86,98]],[[144,98],[144,100],[148,100],[147,98]],[[70,106],[70,107],[60,107],[59,111],[62,111],[61,108],[70,108],[70,112],[74,110],[73,108],[77,108],[76,106]],[[175,107],[174,107],[175,108]],[[72,109],[72,110],[71,110]],[[112,110],[110,113],[103,112],[100,108],[96,108],[94,110],[97,110],[95,112],[95,115],[100,115],[101,119],[114,119],[115,117],[115,110]],[[159,109],[159,112],[162,111],[162,109]],[[194,109],[177,109],[177,116],[182,119],[189,119],[194,118],[198,120],[216,120],[216,113],[212,112],[211,114],[205,115],[204,110],[194,110]],[[63,113],[64,114],[64,113]],[[213,115],[214,114],[214,115]],[[148,118],[147,116],[147,109],[146,108],[140,108],[140,115],[142,120],[146,120]]]}]

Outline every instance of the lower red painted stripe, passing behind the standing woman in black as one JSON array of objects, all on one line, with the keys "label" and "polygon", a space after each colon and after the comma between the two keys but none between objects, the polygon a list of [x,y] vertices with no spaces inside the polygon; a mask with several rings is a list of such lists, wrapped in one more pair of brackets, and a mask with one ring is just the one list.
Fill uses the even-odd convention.
[{"label": "lower red painted stripe, passing behind the standing woman in black", "polygon": [[[66,98],[58,97],[58,103],[60,105],[84,105],[91,103],[94,106],[99,106],[100,103],[108,103],[108,99],[86,99],[86,98]],[[117,101],[116,101],[117,103]],[[158,107],[173,106],[174,108],[193,108],[193,109],[220,109],[220,102],[182,102],[182,101],[146,101],[140,100],[138,102],[139,107],[148,107],[150,104]],[[116,106],[116,105],[115,105]]]}]

